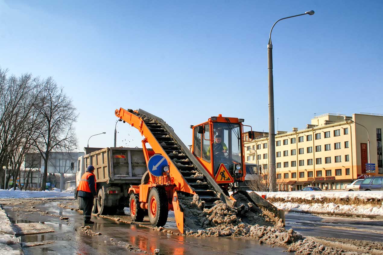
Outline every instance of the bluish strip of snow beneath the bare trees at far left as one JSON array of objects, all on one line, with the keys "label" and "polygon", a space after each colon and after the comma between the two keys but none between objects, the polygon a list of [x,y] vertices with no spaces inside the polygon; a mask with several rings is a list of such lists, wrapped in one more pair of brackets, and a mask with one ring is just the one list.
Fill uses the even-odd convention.
[{"label": "bluish strip of snow beneath the bare trees at far left", "polygon": [[73,197],[73,194],[57,191],[0,190],[0,198],[61,198],[67,196]]}]

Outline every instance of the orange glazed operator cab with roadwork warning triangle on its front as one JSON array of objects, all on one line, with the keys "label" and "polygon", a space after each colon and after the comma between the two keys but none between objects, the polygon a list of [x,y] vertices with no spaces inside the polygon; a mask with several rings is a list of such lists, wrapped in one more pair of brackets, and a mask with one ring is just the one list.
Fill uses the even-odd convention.
[{"label": "orange glazed operator cab with roadwork warning triangle on its front", "polygon": [[[214,180],[224,188],[245,180],[243,119],[221,114],[193,129],[192,152]],[[249,132],[252,139],[252,131]]]}]

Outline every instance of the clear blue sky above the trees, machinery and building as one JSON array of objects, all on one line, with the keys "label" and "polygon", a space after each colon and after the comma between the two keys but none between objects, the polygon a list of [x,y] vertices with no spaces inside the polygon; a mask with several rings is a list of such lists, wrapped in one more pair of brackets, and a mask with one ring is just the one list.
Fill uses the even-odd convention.
[{"label": "clear blue sky above the trees, machinery and building", "polygon": [[[110,147],[116,108],[190,124],[223,114],[268,131],[273,23],[275,125],[323,113],[383,113],[382,1],[4,1],[0,65],[52,76],[73,99],[79,150]],[[141,136],[118,123],[118,146]]]}]

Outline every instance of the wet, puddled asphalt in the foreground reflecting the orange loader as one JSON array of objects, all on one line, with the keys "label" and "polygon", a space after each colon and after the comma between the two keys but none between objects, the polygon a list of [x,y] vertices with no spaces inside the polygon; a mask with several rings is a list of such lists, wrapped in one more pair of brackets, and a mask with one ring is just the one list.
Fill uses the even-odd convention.
[{"label": "wet, puddled asphalt in the foreground reflecting the orange loader", "polygon": [[126,244],[137,246],[142,251],[146,251],[146,254],[154,253],[154,249],[160,249],[159,254],[172,255],[292,254],[283,252],[285,250],[283,247],[270,247],[259,244],[257,240],[168,235],[135,224],[119,224],[116,221],[93,216],[92,220],[96,223],[93,226],[90,225],[91,229],[94,232],[101,232],[102,235],[88,236],[80,232],[80,226],[83,226],[83,216],[78,212],[58,207],[57,202],[36,204],[36,208],[52,214],[67,216],[69,221],[54,216],[40,215],[39,212],[15,212],[11,210],[11,207],[4,206],[13,223],[44,222],[55,229],[55,232],[51,233],[21,236],[22,242],[54,240],[52,244],[23,247],[26,255],[145,254],[144,252],[129,251],[124,246]]}]

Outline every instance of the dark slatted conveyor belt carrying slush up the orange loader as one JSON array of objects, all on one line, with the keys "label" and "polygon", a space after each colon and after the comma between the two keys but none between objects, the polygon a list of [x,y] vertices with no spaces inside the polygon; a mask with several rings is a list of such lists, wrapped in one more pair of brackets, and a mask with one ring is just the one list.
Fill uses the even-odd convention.
[{"label": "dark slatted conveyor belt carrying slush up the orange loader", "polygon": [[128,111],[144,121],[146,127],[151,131],[169,159],[172,160],[172,163],[187,184],[202,201],[205,201],[205,208],[213,207],[214,202],[217,200],[232,203],[232,200],[224,195],[221,187],[213,180],[201,163],[195,159],[194,155],[191,154],[190,150],[169,125],[162,119],[141,109],[138,111],[139,113],[131,109],[128,109]]}]

